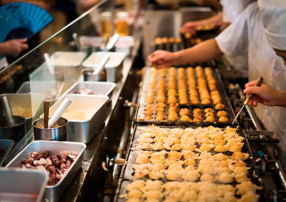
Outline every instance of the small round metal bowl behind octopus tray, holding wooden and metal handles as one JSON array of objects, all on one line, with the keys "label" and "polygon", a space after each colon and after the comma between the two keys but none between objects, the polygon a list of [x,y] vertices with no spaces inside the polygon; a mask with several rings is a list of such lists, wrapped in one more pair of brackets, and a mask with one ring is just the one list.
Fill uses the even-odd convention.
[{"label": "small round metal bowl behind octopus tray, holding wooden and metal handles", "polygon": [[56,140],[67,141],[67,124],[69,121],[65,118],[60,118],[57,124],[60,127],[56,128],[39,128],[39,125],[44,125],[44,118],[39,118],[33,121],[34,139],[35,140]]}]

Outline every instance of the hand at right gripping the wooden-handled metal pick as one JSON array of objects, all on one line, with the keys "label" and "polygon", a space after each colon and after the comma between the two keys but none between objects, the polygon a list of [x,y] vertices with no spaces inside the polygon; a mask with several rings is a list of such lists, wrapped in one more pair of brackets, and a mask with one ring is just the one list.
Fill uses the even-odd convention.
[{"label": "hand at right gripping the wooden-handled metal pick", "polygon": [[277,105],[277,101],[282,92],[272,88],[269,84],[266,84],[264,81],[262,82],[260,87],[254,86],[255,83],[256,80],[250,81],[249,83],[245,84],[245,90],[243,90],[243,92],[246,93],[247,95],[253,93],[253,96],[248,102],[248,104],[254,107],[256,107],[258,103],[261,103],[269,107]]}]

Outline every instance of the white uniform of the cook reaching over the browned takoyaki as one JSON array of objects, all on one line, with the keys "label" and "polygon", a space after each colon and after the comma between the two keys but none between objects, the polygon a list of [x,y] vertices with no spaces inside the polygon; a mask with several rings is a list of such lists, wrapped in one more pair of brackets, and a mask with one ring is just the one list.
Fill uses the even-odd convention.
[{"label": "white uniform of the cook reaching over the browned takoyaki", "polygon": [[[261,20],[258,3],[252,3],[216,37],[216,42],[228,56],[248,52],[249,81],[262,76],[272,87],[286,91],[286,66],[267,42]],[[274,138],[280,137],[278,145],[286,152],[286,108],[258,104],[254,111],[266,129],[274,131]]]}]

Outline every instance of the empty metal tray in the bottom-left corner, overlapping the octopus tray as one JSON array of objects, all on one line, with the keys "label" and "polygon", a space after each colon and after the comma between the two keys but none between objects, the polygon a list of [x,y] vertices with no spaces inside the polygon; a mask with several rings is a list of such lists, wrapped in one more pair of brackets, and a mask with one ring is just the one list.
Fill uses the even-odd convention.
[{"label": "empty metal tray in the bottom-left corner, overlapping the octopus tray", "polygon": [[5,202],[42,200],[48,175],[40,170],[0,168],[0,200]]}]

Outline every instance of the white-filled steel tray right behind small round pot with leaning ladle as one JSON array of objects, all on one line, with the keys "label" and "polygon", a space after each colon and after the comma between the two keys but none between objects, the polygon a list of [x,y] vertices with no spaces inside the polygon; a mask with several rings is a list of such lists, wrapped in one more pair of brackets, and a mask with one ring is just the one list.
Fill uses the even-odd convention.
[{"label": "white-filled steel tray right behind small round pot with leaning ladle", "polygon": [[84,67],[97,67],[105,55],[109,56],[109,60],[105,65],[106,81],[116,82],[121,77],[123,61],[126,57],[125,53],[119,52],[95,52],[92,53],[83,63]]}]

